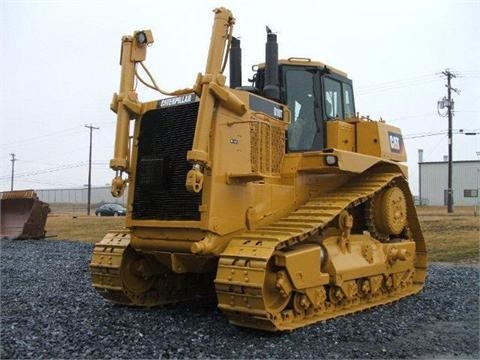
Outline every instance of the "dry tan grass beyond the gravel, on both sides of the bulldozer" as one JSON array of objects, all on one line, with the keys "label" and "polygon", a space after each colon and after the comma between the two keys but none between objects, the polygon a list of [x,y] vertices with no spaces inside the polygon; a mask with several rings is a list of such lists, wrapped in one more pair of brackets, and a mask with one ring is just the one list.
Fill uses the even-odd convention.
[{"label": "dry tan grass beyond the gravel, on both sides of the bulldozer", "polygon": [[[66,209],[65,209],[66,210]],[[473,209],[455,208],[447,214],[445,207],[419,207],[417,212],[428,248],[429,261],[479,263],[480,216]],[[71,213],[53,213],[47,220],[47,235],[95,243],[110,230],[120,229],[123,217],[95,217]]]}]

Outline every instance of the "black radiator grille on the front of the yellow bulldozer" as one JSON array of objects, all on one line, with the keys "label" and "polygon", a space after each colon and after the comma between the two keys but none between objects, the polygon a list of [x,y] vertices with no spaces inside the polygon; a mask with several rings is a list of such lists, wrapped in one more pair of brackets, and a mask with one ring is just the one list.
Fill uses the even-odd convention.
[{"label": "black radiator grille on the front of the yellow bulldozer", "polygon": [[133,219],[200,220],[201,195],[185,189],[198,102],[152,110],[142,118]]}]

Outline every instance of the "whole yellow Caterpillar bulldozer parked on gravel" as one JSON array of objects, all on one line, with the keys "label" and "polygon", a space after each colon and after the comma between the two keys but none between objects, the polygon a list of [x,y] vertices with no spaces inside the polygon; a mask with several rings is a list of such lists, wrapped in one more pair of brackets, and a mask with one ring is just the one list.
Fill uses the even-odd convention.
[{"label": "whole yellow Caterpillar bulldozer parked on gravel", "polygon": [[426,249],[400,130],[355,115],[344,72],[279,60],[268,28],[265,62],[242,86],[234,18],[214,13],[205,73],[173,97],[138,99],[136,79],[162,92],[143,63],[153,37],[122,39],[110,167],[114,195],[129,184],[128,213],[94,248],[93,286],[145,307],[216,292],[231,323],[269,331],[420,291]]}]

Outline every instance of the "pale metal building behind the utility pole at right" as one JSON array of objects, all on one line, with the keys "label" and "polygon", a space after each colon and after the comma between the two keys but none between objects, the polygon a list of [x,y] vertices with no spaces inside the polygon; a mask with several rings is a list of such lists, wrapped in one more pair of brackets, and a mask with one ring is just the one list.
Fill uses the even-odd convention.
[{"label": "pale metal building behind the utility pole at right", "polygon": [[[419,198],[421,205],[447,205],[448,161],[423,162],[419,157]],[[480,161],[452,162],[454,206],[478,205]]]}]

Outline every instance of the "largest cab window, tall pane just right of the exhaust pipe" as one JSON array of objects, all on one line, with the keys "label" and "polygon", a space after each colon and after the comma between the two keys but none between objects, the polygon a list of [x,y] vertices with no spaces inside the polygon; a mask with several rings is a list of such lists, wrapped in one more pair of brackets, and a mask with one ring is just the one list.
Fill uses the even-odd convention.
[{"label": "largest cab window, tall pane just right of the exhaust pipe", "polygon": [[292,113],[288,127],[290,151],[309,150],[317,134],[315,120],[315,72],[289,69],[285,72],[287,106]]}]

